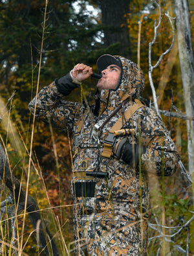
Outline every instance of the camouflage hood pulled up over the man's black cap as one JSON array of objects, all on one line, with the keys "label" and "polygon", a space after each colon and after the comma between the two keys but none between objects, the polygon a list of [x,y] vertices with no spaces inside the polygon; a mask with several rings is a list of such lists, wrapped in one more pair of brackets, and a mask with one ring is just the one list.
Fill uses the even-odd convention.
[{"label": "camouflage hood pulled up over the man's black cap", "polygon": [[[144,73],[134,62],[122,56],[113,56],[120,62],[121,74],[115,89],[102,89],[100,99],[105,105],[120,105],[128,97],[138,99],[144,89]],[[111,65],[111,64],[110,64]]]}]

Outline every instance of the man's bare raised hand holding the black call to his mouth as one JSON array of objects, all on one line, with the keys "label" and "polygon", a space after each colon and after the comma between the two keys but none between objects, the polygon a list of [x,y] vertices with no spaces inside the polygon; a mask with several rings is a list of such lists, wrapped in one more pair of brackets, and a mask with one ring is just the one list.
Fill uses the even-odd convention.
[{"label": "man's bare raised hand holding the black call to his mouth", "polygon": [[85,64],[77,64],[72,69],[72,76],[79,82],[84,81],[92,75],[92,67]]}]

